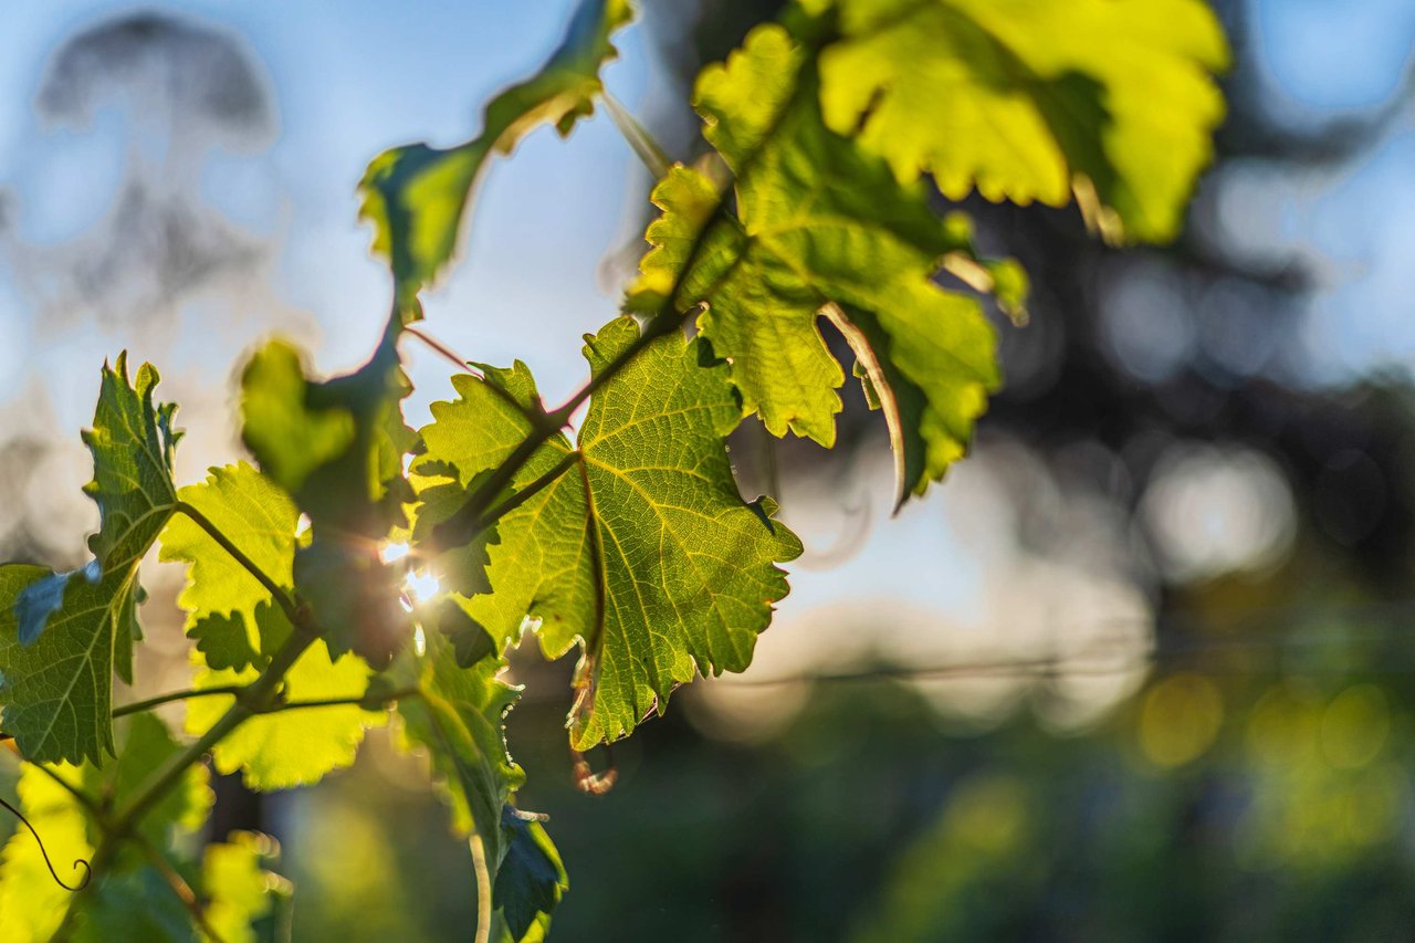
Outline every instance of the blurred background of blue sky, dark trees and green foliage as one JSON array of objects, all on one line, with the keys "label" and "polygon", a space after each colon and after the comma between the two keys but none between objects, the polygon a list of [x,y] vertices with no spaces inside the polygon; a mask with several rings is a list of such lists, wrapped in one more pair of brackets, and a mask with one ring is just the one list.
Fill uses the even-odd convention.
[{"label": "blurred background of blue sky, dark trees and green foliage", "polygon": [[[606,81],[691,159],[692,76],[774,4],[640,6]],[[358,365],[391,290],[355,221],[364,166],[467,137],[569,7],[7,8],[0,556],[82,562],[78,429],[105,357],[158,365],[183,481],[241,456],[231,379],[259,340]],[[516,658],[519,801],[570,874],[558,939],[1411,936],[1415,6],[1218,13],[1230,116],[1176,245],[964,205],[1034,296],[1030,324],[999,321],[1006,389],[944,486],[890,517],[856,388],[832,453],[737,433],[743,491],[778,493],[808,548],[750,671],[675,697],[589,797],[560,729],[570,665]],[[535,133],[483,185],[427,333],[572,392],[649,184],[603,116]],[[405,354],[416,426],[450,384]],[[188,684],[180,583],[146,571],[143,692]],[[218,833],[283,842],[297,940],[470,933],[466,848],[383,732],[313,790],[219,794]]]}]

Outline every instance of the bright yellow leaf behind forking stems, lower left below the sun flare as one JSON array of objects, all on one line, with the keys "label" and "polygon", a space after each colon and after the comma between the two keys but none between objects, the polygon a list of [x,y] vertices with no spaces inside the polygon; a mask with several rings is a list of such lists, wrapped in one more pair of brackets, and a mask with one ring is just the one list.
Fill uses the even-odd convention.
[{"label": "bright yellow leaf behind forking stems, lower left below the sun flare", "polygon": [[[259,675],[243,671],[204,670],[197,688],[249,684]],[[287,701],[359,698],[368,690],[372,671],[362,658],[345,654],[331,661],[323,641],[314,643],[284,675]],[[233,697],[212,695],[187,702],[187,732],[205,733],[235,702]],[[386,721],[382,711],[358,705],[303,708],[250,718],[226,735],[214,749],[219,773],[241,770],[249,789],[273,790],[308,786],[325,773],[354,762],[364,731]]]}]

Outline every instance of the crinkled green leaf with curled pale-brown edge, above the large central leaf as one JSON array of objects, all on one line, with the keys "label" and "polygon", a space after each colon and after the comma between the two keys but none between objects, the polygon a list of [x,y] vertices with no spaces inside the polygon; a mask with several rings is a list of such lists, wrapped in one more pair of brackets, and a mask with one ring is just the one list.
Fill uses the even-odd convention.
[{"label": "crinkled green leaf with curled pale-brown edge, above the large central leaf", "polygon": [[[699,330],[732,362],[743,409],[774,435],[826,446],[845,379],[818,327],[829,316],[886,411],[897,498],[921,494],[964,453],[1000,382],[979,303],[931,280],[941,259],[974,252],[971,234],[938,219],[921,184],[897,183],[825,127],[807,51],[778,25],[703,69],[695,101],[737,173],[740,222],[713,215],[712,184],[675,167],[654,190],[664,215],[630,307],[658,310],[675,289],[679,310],[705,304]],[[992,270],[1010,276],[1017,303],[1016,273]]]}]

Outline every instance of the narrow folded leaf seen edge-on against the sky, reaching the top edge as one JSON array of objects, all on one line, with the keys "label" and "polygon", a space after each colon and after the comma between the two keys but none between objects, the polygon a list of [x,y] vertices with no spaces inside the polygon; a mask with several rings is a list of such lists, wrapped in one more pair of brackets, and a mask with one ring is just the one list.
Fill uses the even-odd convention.
[{"label": "narrow folded leaf seen edge-on against the sky, reaching the top edge", "polygon": [[631,16],[627,0],[583,0],[541,71],[491,99],[477,137],[450,149],[395,147],[368,166],[359,184],[359,215],[374,227],[374,252],[389,261],[406,320],[422,316],[417,293],[454,255],[487,159],[509,154],[542,125],[569,135],[576,120],[590,115],[603,88],[600,67],[617,55],[610,37]]}]

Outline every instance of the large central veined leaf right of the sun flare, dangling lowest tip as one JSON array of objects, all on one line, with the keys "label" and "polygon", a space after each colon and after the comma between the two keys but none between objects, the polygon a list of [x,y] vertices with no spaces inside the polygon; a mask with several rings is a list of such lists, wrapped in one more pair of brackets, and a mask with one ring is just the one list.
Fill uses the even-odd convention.
[{"label": "large central veined leaf right of the sun flare, dangling lowest tip", "polygon": [[[638,333],[616,319],[587,337],[591,370]],[[495,592],[460,600],[498,646],[526,620],[550,657],[583,644],[572,726],[582,749],[627,736],[699,671],[746,668],[771,603],[787,592],[773,561],[801,552],[771,520],[770,500],[749,504],[737,493],[722,438],[740,408],[726,365],[699,365],[702,347],[674,333],[604,384],[574,464],[502,517],[499,542],[485,547]],[[522,364],[453,384],[460,399],[433,405],[422,430],[427,455],[415,467],[456,469],[466,487],[526,435],[529,421],[508,401],[535,391]],[[563,436],[549,440],[515,487],[570,453]]]}]

